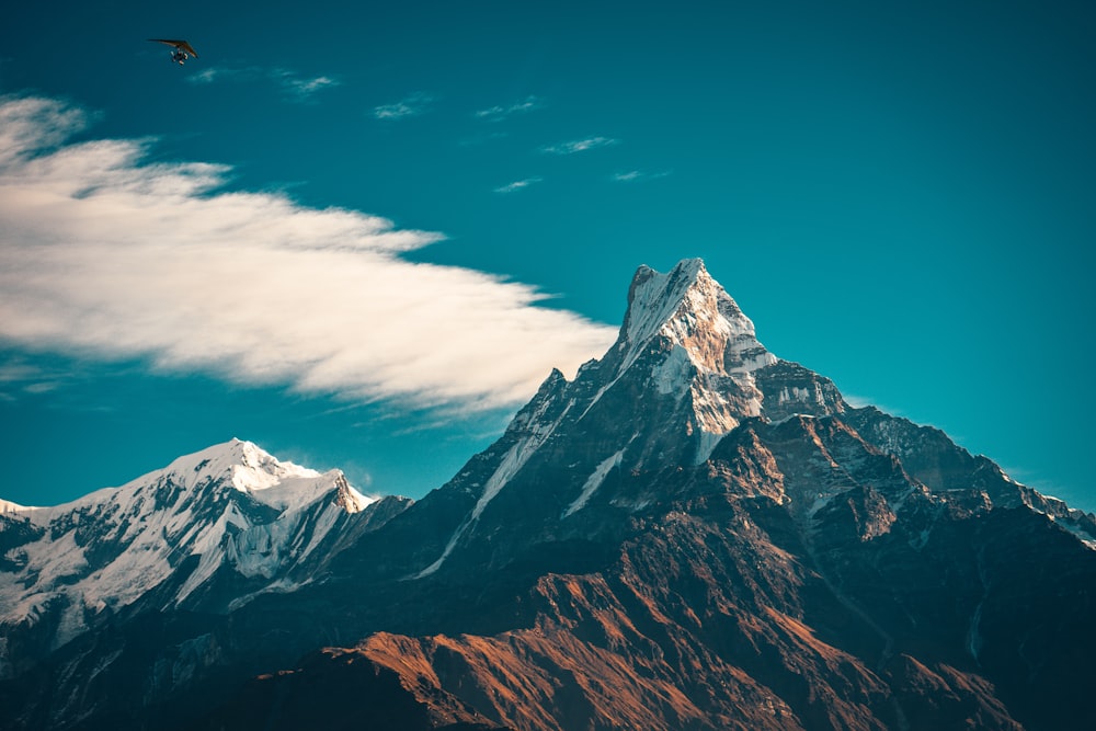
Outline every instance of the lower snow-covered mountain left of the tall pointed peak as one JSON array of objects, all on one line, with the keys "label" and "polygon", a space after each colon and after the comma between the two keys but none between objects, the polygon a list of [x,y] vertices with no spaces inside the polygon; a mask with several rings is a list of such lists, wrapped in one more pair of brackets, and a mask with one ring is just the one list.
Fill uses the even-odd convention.
[{"label": "lower snow-covered mountain left of the tall pointed peak", "polygon": [[64,505],[4,501],[0,626],[59,614],[57,647],[151,592],[168,607],[203,605],[215,581],[236,582],[244,601],[292,589],[374,502],[339,470],[282,462],[240,439]]}]

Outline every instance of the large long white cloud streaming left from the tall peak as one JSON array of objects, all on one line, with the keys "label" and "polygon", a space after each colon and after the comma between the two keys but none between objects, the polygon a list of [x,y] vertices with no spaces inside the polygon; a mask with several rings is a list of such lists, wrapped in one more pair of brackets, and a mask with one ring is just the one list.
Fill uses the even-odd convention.
[{"label": "large long white cloud streaming left from the tall peak", "polygon": [[347,399],[477,409],[528,398],[614,330],[536,288],[400,252],[442,238],[225,192],[149,142],[69,142],[89,115],[0,98],[0,339]]}]

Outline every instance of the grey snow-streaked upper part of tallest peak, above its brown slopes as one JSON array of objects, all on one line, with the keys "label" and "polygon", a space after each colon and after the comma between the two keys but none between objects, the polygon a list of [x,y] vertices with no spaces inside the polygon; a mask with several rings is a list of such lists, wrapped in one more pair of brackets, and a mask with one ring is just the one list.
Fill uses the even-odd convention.
[{"label": "grey snow-streaked upper part of tallest peak, above its brown slopes", "polygon": [[[848,433],[843,455],[819,436],[834,423]],[[573,381],[551,374],[498,443],[423,501],[420,512],[446,503],[452,529],[441,546],[418,542],[423,560],[434,555],[411,575],[429,576],[465,551],[469,572],[484,562],[511,563],[539,545],[539,534],[528,532],[534,521],[550,542],[612,533],[680,498],[667,492],[664,470],[709,464],[717,450],[747,435],[774,454],[774,439],[802,443],[804,464],[792,464],[791,455],[778,458],[786,468],[781,479],[751,490],[804,525],[865,482],[888,490],[892,507],[927,515],[947,490],[972,488],[970,476],[978,473],[990,504],[1027,505],[1082,540],[1096,539],[1091,516],[1014,482],[937,430],[852,409],[830,379],[769,353],[704,263],[686,260],[666,274],[640,267],[619,336],[605,356],[584,364]],[[883,462],[894,472],[886,479],[857,473]]]}]

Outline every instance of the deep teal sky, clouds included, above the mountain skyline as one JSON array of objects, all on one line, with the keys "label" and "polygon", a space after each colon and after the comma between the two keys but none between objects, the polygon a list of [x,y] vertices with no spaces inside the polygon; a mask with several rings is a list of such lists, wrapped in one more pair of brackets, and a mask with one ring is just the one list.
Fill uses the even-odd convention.
[{"label": "deep teal sky, clouds included, above the mountain skyline", "polygon": [[419,496],[701,256],[780,357],[1096,510],[1093,37],[1081,2],[22,3],[0,496],[233,436]]}]

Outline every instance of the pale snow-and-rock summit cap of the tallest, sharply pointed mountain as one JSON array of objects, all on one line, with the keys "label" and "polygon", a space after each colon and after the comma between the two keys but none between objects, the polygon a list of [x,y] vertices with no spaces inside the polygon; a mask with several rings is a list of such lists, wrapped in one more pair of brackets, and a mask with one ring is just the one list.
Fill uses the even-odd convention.
[{"label": "pale snow-and-rock summit cap of the tallest, sharply pointed mountain", "polygon": [[659,336],[680,345],[704,373],[744,376],[777,362],[699,259],[686,259],[667,274],[649,266],[636,272],[616,345],[624,368]]}]

